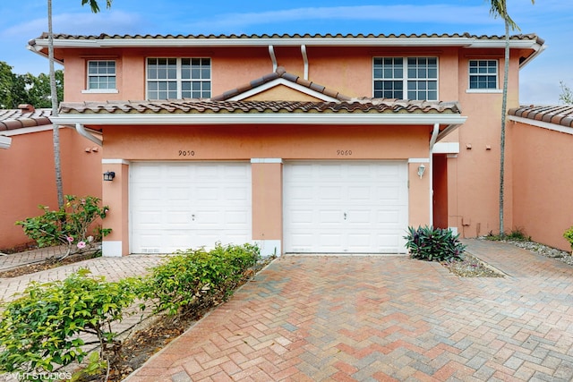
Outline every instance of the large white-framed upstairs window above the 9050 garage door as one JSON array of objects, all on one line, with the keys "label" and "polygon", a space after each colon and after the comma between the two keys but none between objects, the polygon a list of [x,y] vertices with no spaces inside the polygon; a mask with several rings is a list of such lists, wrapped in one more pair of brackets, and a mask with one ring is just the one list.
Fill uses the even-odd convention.
[{"label": "large white-framed upstairs window above the 9050 garage door", "polygon": [[147,98],[210,98],[210,58],[148,58]]}]

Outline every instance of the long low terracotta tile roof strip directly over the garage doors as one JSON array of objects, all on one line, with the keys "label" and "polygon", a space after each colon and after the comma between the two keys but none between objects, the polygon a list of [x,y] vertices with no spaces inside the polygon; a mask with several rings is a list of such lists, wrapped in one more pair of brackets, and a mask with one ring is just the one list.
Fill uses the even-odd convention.
[{"label": "long low terracotta tile roof strip directly over the garage doors", "polygon": [[246,114],[246,113],[393,113],[459,114],[456,102],[411,101],[393,98],[354,98],[338,102],[213,101],[169,99],[166,101],[64,102],[60,115],[88,114]]}]

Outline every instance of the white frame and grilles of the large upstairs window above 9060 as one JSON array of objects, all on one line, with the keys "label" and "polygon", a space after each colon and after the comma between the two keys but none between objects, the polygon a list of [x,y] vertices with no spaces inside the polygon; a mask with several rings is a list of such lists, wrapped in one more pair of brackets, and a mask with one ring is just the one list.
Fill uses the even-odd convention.
[{"label": "white frame and grilles of the large upstairs window above 9060", "polygon": [[[376,77],[375,74],[376,74],[376,70],[378,68],[375,66],[375,62],[377,59],[381,59],[381,60],[384,60],[384,59],[392,59],[392,60],[401,59],[402,60],[402,76],[401,77],[394,77],[394,73],[392,73],[392,77],[383,77],[383,73],[382,73],[381,77]],[[416,60],[416,64],[415,64],[416,65],[415,66],[416,72],[423,69],[419,66],[417,61],[428,60],[428,59],[435,60],[435,62],[436,62],[435,78],[428,76],[427,75],[428,72],[426,72],[425,77],[411,77],[411,76],[409,76],[408,60],[412,60],[412,59]],[[416,75],[417,75],[417,73],[416,73]],[[422,100],[437,101],[440,99],[440,60],[436,56],[375,56],[372,58],[372,97],[376,97],[376,93],[378,91],[383,92],[383,90],[376,89],[376,85],[375,85],[376,81],[402,81],[402,98],[413,99],[413,100],[420,100],[420,98],[418,98],[418,94],[416,94],[415,98],[409,98],[408,97],[408,93],[411,91],[410,89],[408,89],[408,85],[412,84],[412,83],[421,84],[422,82],[425,82],[426,89],[415,89],[413,91],[415,91],[416,93],[423,91],[423,92],[425,92],[426,96],[428,95],[429,92],[435,92],[435,95],[436,95],[435,98],[423,98]],[[436,89],[428,89],[427,85],[430,82],[435,83]],[[392,89],[391,91],[395,92],[396,90]]]}]

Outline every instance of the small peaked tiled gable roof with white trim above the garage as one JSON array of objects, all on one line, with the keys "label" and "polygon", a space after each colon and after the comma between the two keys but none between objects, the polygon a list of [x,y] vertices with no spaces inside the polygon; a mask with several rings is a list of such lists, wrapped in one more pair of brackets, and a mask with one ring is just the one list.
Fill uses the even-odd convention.
[{"label": "small peaked tiled gable roof with white trim above the garage", "polygon": [[304,78],[301,78],[300,76],[286,72],[285,68],[283,68],[282,66],[278,66],[276,72],[266,74],[266,75],[262,76],[261,78],[258,78],[256,80],[252,80],[251,82],[246,83],[242,86],[239,86],[238,88],[227,90],[223,94],[212,97],[211,101],[225,101],[229,98],[233,98],[235,96],[238,96],[241,93],[244,93],[245,91],[256,89],[256,88],[258,88],[258,87],[260,87],[260,86],[262,86],[262,85],[264,85],[270,81],[274,81],[274,80],[277,80],[279,78],[282,78],[286,81],[293,82],[293,83],[300,85],[300,86],[304,86],[305,88],[312,89],[312,90],[317,91],[321,94],[324,94],[325,96],[328,96],[330,98],[336,98],[339,101],[349,101],[350,100],[350,97],[346,97],[345,95],[338,93],[338,91],[336,91],[336,90],[327,89],[324,86],[319,85],[318,83],[304,80]]}]

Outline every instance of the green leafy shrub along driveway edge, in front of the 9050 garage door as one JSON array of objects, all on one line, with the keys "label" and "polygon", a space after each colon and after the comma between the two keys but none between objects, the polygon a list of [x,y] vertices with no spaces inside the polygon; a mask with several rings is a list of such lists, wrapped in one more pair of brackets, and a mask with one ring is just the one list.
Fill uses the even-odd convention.
[{"label": "green leafy shrub along driveway edge, in front of the 9050 garage door", "polygon": [[251,244],[222,246],[206,251],[184,250],[150,269],[142,283],[142,298],[155,301],[154,311],[169,315],[224,301],[260,259],[260,250]]}]

